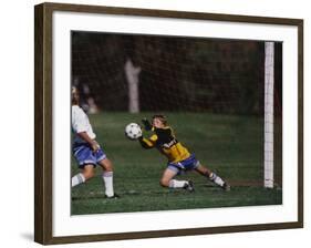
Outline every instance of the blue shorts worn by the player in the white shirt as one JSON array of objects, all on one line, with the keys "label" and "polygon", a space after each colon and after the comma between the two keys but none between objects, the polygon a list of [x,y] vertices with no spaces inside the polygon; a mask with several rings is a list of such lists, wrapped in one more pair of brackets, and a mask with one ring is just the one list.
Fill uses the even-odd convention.
[{"label": "blue shorts worn by the player in the white shirt", "polygon": [[79,168],[83,168],[85,165],[93,165],[96,167],[100,161],[106,158],[106,154],[102,148],[95,153],[87,143],[73,144],[73,155],[77,162]]}]

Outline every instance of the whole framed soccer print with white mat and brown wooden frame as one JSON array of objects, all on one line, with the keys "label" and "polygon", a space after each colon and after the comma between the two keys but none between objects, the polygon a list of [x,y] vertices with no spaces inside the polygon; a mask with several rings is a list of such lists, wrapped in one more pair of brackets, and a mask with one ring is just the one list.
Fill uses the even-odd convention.
[{"label": "whole framed soccer print with white mat and brown wooden frame", "polygon": [[301,228],[303,21],[35,6],[35,241]]}]

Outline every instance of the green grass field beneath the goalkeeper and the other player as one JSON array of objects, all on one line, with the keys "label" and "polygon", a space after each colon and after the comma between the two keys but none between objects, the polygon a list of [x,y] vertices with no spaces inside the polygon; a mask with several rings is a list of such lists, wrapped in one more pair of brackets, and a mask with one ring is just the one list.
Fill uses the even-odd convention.
[{"label": "green grass field beneath the goalkeeper and the other player", "polygon": [[[173,210],[215,207],[276,205],[282,203],[281,188],[263,188],[263,122],[256,116],[205,113],[165,113],[177,140],[203,165],[232,186],[230,192],[212,186],[194,172],[195,193],[162,188],[159,178],[166,158],[156,149],[145,151],[124,136],[124,127],[152,113],[101,113],[90,121],[107,156],[114,164],[114,188],[118,199],[105,199],[101,168],[97,176],[72,189],[72,215]],[[79,172],[72,158],[72,174]]]}]

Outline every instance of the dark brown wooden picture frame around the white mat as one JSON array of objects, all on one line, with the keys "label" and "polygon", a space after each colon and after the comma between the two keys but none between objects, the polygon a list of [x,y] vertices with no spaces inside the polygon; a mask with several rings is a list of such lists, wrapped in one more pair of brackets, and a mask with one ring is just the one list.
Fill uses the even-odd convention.
[{"label": "dark brown wooden picture frame around the white mat", "polygon": [[[80,6],[63,3],[42,3],[34,8],[34,102],[35,102],[35,179],[34,179],[34,240],[43,245],[87,242],[137,238],[173,237],[189,235],[207,235],[220,232],[238,232],[249,230],[271,230],[303,227],[303,20],[284,18],[263,18],[232,14],[215,14],[201,12],[182,12],[151,9],[129,9],[99,6]],[[83,236],[53,236],[52,216],[52,137],[53,137],[53,110],[52,110],[52,54],[53,39],[52,16],[54,11],[76,13],[110,13],[121,16],[137,16],[151,18],[175,18],[184,20],[215,20],[226,22],[260,23],[274,25],[291,25],[298,28],[298,220],[290,223],[239,225],[225,227],[186,228],[176,230],[146,230],[120,234],[97,234]]]}]

